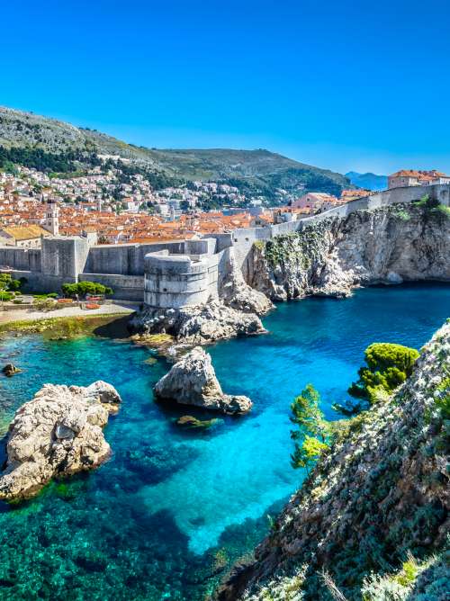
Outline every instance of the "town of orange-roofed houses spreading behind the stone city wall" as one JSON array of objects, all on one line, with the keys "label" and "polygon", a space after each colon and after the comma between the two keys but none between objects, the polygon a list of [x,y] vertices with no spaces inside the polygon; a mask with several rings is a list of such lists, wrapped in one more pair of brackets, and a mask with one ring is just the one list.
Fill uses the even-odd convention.
[{"label": "town of orange-roofed houses spreading behind the stone city wall", "polygon": [[[450,176],[402,170],[389,176],[389,188],[448,184]],[[198,238],[237,228],[300,220],[370,195],[343,190],[339,197],[308,192],[285,206],[246,205],[235,188],[215,182],[190,182],[153,190],[142,175],[119,183],[112,171],[52,177],[24,166],[0,172],[0,244],[39,247],[49,235],[95,234],[98,244],[152,243]],[[220,211],[204,211],[205,199],[220,201]],[[244,205],[244,206],[243,206]]]}]

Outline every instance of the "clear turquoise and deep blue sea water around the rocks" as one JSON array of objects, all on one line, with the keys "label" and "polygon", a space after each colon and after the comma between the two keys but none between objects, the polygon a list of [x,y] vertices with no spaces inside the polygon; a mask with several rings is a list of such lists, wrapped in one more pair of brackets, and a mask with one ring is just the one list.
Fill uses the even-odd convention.
[{"label": "clear turquoise and deep blue sea water around the rocks", "polygon": [[99,338],[2,340],[2,362],[23,368],[0,379],[3,433],[47,381],[109,381],[123,405],[106,428],[114,453],[103,467],[19,507],[0,505],[0,599],[204,599],[302,481],[289,462],[295,394],[311,381],[333,417],[367,345],[419,347],[449,308],[450,286],[437,284],[279,305],[266,336],[211,347],[223,389],[247,394],[254,409],[202,432],[174,423],[201,413],[153,402],[168,365],[147,349]]}]

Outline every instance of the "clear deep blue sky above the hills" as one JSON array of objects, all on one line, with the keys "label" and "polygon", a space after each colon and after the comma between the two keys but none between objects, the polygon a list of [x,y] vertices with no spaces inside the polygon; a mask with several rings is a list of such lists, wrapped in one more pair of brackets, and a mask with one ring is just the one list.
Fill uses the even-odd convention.
[{"label": "clear deep blue sky above the hills", "polygon": [[450,172],[450,3],[2,3],[0,104],[157,148]]}]

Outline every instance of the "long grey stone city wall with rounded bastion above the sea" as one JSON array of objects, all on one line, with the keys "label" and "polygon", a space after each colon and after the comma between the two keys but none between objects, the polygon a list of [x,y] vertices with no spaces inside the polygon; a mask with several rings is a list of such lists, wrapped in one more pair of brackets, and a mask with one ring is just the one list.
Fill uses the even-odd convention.
[{"label": "long grey stone city wall with rounded bastion above the sea", "polygon": [[90,235],[42,238],[40,248],[0,247],[0,271],[7,269],[16,278],[26,278],[31,292],[58,292],[63,283],[90,280],[111,286],[117,299],[180,308],[217,298],[231,255],[246,277],[251,248],[257,240],[298,231],[329,217],[418,201],[426,194],[450,206],[450,184],[413,186],[375,193],[302,220],[235,229],[197,240],[96,246]]}]

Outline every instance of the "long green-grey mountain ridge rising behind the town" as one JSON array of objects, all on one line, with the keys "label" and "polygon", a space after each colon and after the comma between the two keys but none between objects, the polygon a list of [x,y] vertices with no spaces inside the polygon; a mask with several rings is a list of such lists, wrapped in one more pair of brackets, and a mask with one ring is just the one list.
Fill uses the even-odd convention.
[{"label": "long green-grey mountain ridge rising behind the town", "polygon": [[[264,149],[138,147],[97,130],[6,107],[0,107],[0,149],[3,152],[0,161],[38,165],[36,168],[43,166],[49,171],[102,165],[98,156],[112,155],[164,175],[162,181],[166,185],[167,182],[216,181],[267,199],[275,199],[279,189],[290,194],[312,190],[339,194],[344,188],[353,187],[344,175]],[[64,168],[53,168],[60,167],[61,163]]]}]

